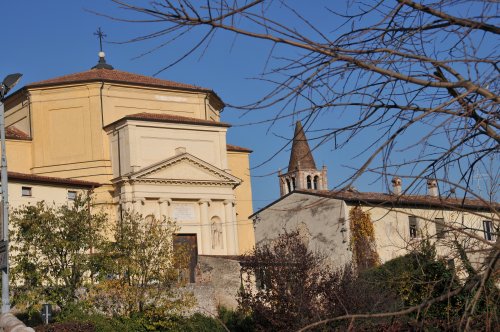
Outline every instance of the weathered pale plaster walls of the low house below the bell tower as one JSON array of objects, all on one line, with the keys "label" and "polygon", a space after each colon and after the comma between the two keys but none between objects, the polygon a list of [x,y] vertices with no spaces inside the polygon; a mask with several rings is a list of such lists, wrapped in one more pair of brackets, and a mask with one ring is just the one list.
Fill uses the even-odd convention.
[{"label": "weathered pale plaster walls of the low house below the bell tower", "polygon": [[[326,253],[335,266],[342,266],[352,257],[349,247],[349,211],[354,206],[331,198],[291,194],[254,216],[258,220],[255,226],[256,243],[259,245],[272,241],[284,230],[298,228],[302,232],[307,229],[310,248]],[[484,239],[483,220],[494,220],[491,213],[367,205],[362,206],[362,209],[370,213],[376,248],[382,263],[407,254],[424,238],[436,244],[438,257],[454,258],[459,272],[461,267],[456,256],[455,241],[468,252],[473,266],[477,267],[484,261],[484,252],[480,249],[488,248],[488,241]],[[419,220],[420,236],[415,239],[410,238],[409,234],[410,215],[417,216]],[[341,232],[342,218],[345,218],[346,232]],[[435,218],[444,218],[444,222],[450,225],[443,239],[436,237]],[[498,220],[493,223],[498,225]]]}]

